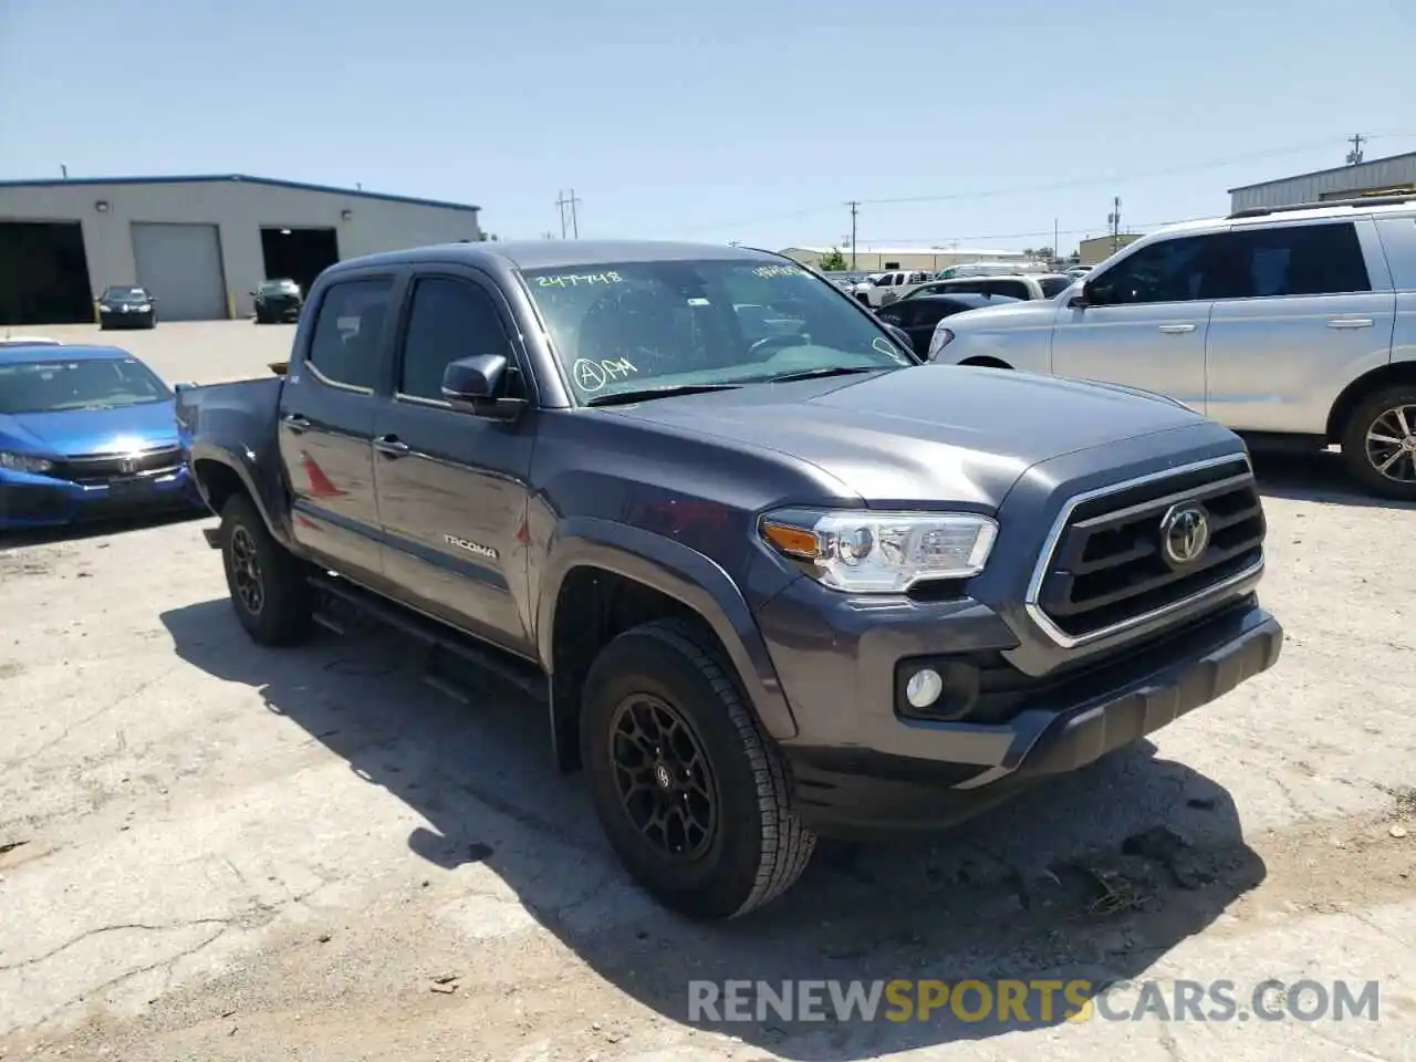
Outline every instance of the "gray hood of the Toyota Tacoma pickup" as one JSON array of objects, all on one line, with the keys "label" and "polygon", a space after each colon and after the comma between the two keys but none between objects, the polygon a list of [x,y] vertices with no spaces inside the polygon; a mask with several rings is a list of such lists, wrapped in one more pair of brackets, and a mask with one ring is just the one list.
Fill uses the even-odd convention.
[{"label": "gray hood of the Toyota Tacoma pickup", "polygon": [[1038,462],[1204,421],[1144,391],[963,365],[758,384],[613,413],[790,455],[869,506],[978,508],[1000,506]]}]

